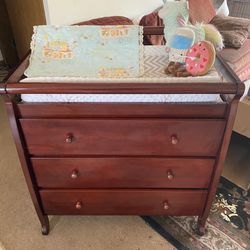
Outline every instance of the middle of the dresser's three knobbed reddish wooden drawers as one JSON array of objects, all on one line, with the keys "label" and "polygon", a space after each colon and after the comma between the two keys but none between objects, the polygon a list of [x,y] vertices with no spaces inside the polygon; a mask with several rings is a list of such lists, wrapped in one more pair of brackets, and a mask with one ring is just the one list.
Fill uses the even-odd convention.
[{"label": "middle of the dresser's three knobbed reddish wooden drawers", "polygon": [[42,188],[208,188],[212,159],[32,158]]}]

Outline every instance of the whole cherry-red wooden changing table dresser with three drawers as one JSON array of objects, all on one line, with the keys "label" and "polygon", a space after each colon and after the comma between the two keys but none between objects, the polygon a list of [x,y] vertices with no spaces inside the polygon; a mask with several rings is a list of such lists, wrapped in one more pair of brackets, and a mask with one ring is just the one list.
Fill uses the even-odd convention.
[{"label": "whole cherry-red wooden changing table dresser with three drawers", "polygon": [[[244,91],[221,58],[218,84],[19,83],[27,64],[0,93],[43,234],[48,215],[192,215],[205,233]],[[223,102],[24,103],[23,93],[216,93]]]}]

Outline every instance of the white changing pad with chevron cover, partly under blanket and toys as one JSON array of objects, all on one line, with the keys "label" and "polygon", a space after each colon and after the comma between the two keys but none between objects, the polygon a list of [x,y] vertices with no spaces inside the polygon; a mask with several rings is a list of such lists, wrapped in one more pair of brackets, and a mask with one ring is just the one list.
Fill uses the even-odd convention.
[{"label": "white changing pad with chevron cover, partly under blanket and toys", "polygon": [[[168,64],[165,46],[144,47],[144,74],[138,78],[81,78],[81,77],[35,77],[21,82],[62,82],[62,83],[178,83],[210,82],[219,83],[221,77],[215,69],[205,76],[172,77],[164,73]],[[22,94],[24,102],[221,102],[218,94]]]}]

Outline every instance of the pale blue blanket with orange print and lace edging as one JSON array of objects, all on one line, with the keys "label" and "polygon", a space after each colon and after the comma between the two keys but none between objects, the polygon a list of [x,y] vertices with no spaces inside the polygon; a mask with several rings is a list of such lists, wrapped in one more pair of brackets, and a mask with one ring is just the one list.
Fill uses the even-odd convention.
[{"label": "pale blue blanket with orange print and lace edging", "polygon": [[129,78],[143,73],[137,25],[35,26],[28,77]]}]

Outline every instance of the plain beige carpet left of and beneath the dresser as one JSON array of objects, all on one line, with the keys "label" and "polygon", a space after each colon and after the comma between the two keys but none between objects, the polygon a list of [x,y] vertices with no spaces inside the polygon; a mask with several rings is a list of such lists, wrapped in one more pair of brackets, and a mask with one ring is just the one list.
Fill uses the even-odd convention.
[{"label": "plain beige carpet left of and beneath the dresser", "polygon": [[0,98],[0,249],[174,249],[137,216],[54,216],[42,236]]}]

